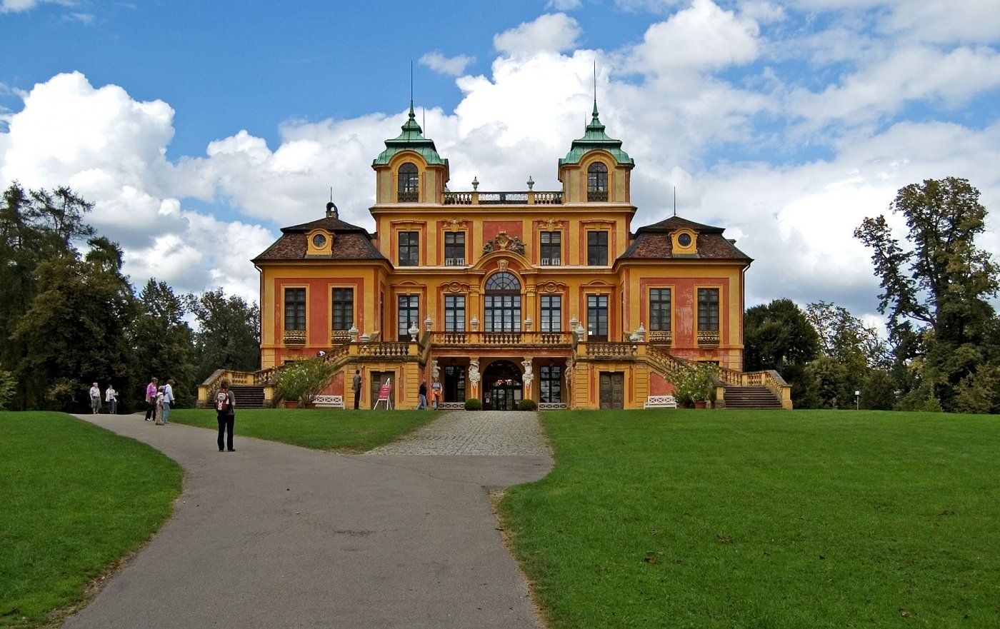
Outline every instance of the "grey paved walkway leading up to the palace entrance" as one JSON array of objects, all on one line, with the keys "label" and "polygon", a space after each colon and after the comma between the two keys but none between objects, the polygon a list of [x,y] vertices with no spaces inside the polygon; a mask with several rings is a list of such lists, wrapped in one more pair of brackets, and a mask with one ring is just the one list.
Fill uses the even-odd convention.
[{"label": "grey paved walkway leading up to the palace entrance", "polygon": [[186,476],[174,517],[66,629],[539,626],[486,490],[551,469],[533,413],[446,413],[356,456],[240,437],[238,417],[225,453],[214,431],[78,417]]}]

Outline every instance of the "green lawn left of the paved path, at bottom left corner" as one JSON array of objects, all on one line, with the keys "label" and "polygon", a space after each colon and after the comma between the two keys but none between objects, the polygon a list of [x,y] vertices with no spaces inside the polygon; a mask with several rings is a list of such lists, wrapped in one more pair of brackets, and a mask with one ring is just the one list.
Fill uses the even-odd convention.
[{"label": "green lawn left of the paved path, at bottom left corner", "polygon": [[62,413],[0,412],[0,627],[33,627],[170,517],[180,467]]}]

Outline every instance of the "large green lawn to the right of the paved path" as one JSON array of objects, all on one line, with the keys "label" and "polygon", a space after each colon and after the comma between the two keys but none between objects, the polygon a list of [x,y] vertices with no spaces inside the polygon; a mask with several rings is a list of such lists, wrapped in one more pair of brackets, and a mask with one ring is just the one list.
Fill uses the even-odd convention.
[{"label": "large green lawn to the right of the paved path", "polygon": [[1000,418],[542,414],[500,505],[550,629],[1000,627]]}]

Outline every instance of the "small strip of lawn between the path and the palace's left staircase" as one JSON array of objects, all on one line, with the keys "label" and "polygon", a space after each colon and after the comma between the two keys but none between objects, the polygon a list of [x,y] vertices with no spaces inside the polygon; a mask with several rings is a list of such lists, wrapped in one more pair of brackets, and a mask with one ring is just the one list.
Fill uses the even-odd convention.
[{"label": "small strip of lawn between the path and the palace's left staircase", "polygon": [[[354,411],[341,409],[236,409],[234,435],[280,441],[304,448],[366,452],[439,417],[438,411]],[[218,430],[212,409],[175,409],[169,421]],[[239,448],[239,445],[236,444]]]}]

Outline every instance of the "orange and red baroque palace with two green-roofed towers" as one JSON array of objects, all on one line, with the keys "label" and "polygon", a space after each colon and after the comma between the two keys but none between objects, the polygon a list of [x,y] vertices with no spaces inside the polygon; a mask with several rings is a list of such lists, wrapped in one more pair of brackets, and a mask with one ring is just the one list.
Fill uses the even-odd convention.
[{"label": "orange and red baroque palace with two green-roofed towers", "polygon": [[[751,259],[723,229],[677,216],[632,232],[634,161],[609,137],[597,105],[559,160],[562,189],[453,192],[448,160],[423,136],[411,104],[402,133],[372,162],[375,233],[342,221],[283,228],[253,259],[260,270],[261,371],[224,373],[270,405],[275,369],[322,355],[338,375],[324,393],[361,407],[388,388],[413,408],[421,382],[441,383],[445,408],[643,408],[672,392],[671,374],[718,366],[715,397],[767,387],[742,373],[744,274]],[[728,385],[728,386],[727,386]],[[382,402],[385,405],[385,401]],[[732,403],[730,405],[735,405]]]}]

